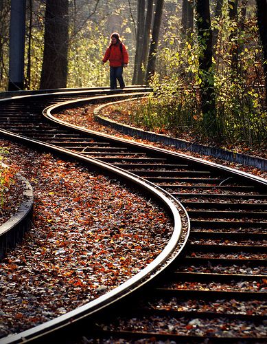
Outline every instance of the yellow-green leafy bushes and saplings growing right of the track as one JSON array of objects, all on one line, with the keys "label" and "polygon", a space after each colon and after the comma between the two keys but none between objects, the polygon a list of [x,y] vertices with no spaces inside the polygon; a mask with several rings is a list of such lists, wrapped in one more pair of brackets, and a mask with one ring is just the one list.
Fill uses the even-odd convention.
[{"label": "yellow-green leafy bushes and saplings growing right of the track", "polygon": [[[137,111],[137,122],[150,130],[171,129],[175,136],[190,133],[203,143],[266,147],[267,116],[260,86],[264,80],[262,48],[255,13],[250,8],[248,13],[242,30],[239,22],[229,19],[228,2],[224,1],[222,17],[212,21],[218,42],[213,65],[205,75],[200,74],[198,62],[204,42],[191,34],[182,50],[174,50],[176,33],[167,32],[172,44],[158,54],[157,74],[151,83],[154,96],[147,107]],[[203,80],[216,95],[215,122],[205,120],[201,113],[199,85]]]}]

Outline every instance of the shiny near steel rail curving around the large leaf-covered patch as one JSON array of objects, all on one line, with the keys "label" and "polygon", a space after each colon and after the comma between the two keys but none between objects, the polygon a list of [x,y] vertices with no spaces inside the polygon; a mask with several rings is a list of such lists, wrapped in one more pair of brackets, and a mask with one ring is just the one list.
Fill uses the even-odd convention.
[{"label": "shiny near steel rail curving around the large leaf-covered patch", "polygon": [[[37,96],[43,95],[38,94]],[[32,98],[32,96],[28,95],[24,97]],[[21,97],[15,97],[15,99],[21,99]],[[14,100],[14,98],[12,98],[12,100]],[[8,101],[8,99],[5,99],[5,101]],[[80,102],[83,101],[84,100],[80,100]],[[76,323],[76,321],[80,321],[81,319],[84,319],[85,317],[88,317],[89,315],[92,315],[95,312],[98,312],[99,310],[106,308],[108,305],[111,305],[111,303],[114,303],[122,297],[125,297],[126,295],[134,292],[138,288],[141,288],[141,286],[148,283],[149,281],[151,281],[151,279],[159,275],[159,273],[162,270],[167,268],[167,266],[169,266],[172,263],[172,261],[183,249],[183,246],[185,246],[188,234],[185,235],[185,238],[183,238],[183,243],[181,243],[181,245],[178,246],[182,234],[182,223],[178,206],[181,208],[183,207],[181,206],[181,204],[179,204],[179,202],[177,202],[177,200],[170,200],[169,197],[167,197],[164,194],[164,191],[159,191],[159,189],[154,188],[152,184],[147,183],[146,181],[141,180],[140,178],[137,178],[134,175],[126,173],[126,171],[123,171],[122,169],[117,169],[115,168],[115,166],[111,166],[110,164],[106,164],[93,158],[84,157],[84,155],[82,155],[81,153],[74,153],[72,151],[69,151],[68,149],[60,148],[53,144],[47,144],[40,142],[38,140],[25,138],[21,135],[12,133],[4,129],[0,129],[0,133],[2,133],[5,137],[14,140],[19,140],[20,142],[23,142],[27,145],[34,145],[34,147],[42,147],[43,149],[49,149],[49,151],[58,153],[60,155],[65,155],[66,157],[76,158],[76,160],[86,162],[91,166],[95,166],[95,168],[97,168],[97,170],[102,171],[102,173],[103,171],[105,171],[108,174],[111,173],[112,175],[116,175],[117,178],[127,180],[131,184],[138,185],[142,189],[146,190],[147,194],[149,193],[150,195],[156,197],[156,199],[160,200],[162,204],[165,204],[165,207],[167,207],[170,213],[172,213],[172,219],[174,222],[174,230],[172,236],[165,248],[156,257],[156,259],[152,261],[152,263],[148,264],[148,266],[146,266],[146,268],[143,268],[143,270],[138,272],[137,275],[131,277],[130,279],[128,279],[128,281],[122,283],[114,290],[107,292],[101,297],[87,303],[86,305],[83,305],[80,308],[77,308],[76,310],[67,312],[67,314],[58,316],[58,318],[56,319],[47,321],[47,323],[43,323],[30,330],[23,331],[20,334],[14,334],[5,338],[1,338],[1,343],[25,343],[30,341],[38,341],[40,340],[40,338],[43,338],[44,336],[51,334],[51,332],[54,333],[58,330],[62,330],[62,328],[67,327],[69,325],[73,325],[73,323]]]}]

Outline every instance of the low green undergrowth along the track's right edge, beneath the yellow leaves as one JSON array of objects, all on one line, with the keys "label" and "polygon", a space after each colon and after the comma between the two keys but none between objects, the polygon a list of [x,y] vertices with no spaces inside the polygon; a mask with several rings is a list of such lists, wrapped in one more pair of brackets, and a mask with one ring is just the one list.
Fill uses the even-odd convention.
[{"label": "low green undergrowth along the track's right edge, beneath the yellow leaves", "polygon": [[186,92],[168,100],[163,96],[151,96],[146,103],[135,107],[131,114],[132,121],[137,127],[149,131],[169,131],[174,137],[190,133],[200,143],[266,148],[267,114],[263,108],[255,108],[253,97],[249,94],[240,96],[233,89],[227,98],[218,98],[216,131],[209,136],[196,93]]}]

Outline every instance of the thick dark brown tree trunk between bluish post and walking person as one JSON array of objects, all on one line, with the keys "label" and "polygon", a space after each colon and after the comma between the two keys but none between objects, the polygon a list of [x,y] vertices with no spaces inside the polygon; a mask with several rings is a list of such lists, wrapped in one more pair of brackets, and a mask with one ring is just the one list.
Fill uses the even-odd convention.
[{"label": "thick dark brown tree trunk between bluish post and walking person", "polygon": [[40,89],[67,87],[69,1],[47,0]]}]

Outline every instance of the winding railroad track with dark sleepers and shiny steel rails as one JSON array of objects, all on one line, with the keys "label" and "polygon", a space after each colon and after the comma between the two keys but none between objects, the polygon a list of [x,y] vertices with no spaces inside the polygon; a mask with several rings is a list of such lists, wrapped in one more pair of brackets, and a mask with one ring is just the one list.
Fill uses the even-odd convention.
[{"label": "winding railroad track with dark sleepers and shiny steel rails", "polygon": [[[78,129],[53,117],[68,107],[144,91],[125,89],[124,94],[116,96],[100,89],[54,92],[0,102],[3,135],[36,147],[43,142],[57,153],[71,151],[77,158],[93,159],[100,169],[108,164],[111,173],[116,169],[121,178],[127,180],[126,175],[130,176],[128,182],[135,178],[141,183],[146,181],[171,203],[174,199],[181,202],[191,224],[182,255],[178,255],[179,250],[176,259],[176,253],[172,255],[172,264],[167,263],[160,274],[153,272],[156,277],[148,278],[148,283],[133,296],[126,292],[126,298],[120,294],[105,307],[97,305],[91,316],[73,321],[71,326],[69,319],[64,326],[52,321],[51,327],[44,325],[38,334],[29,330],[23,337],[37,342],[47,342],[49,338],[57,343],[264,343],[266,180],[186,155]],[[85,100],[86,97],[90,98]],[[77,98],[78,103],[74,102]],[[58,102],[59,105],[52,105]],[[19,342],[21,336],[6,343]]]}]

